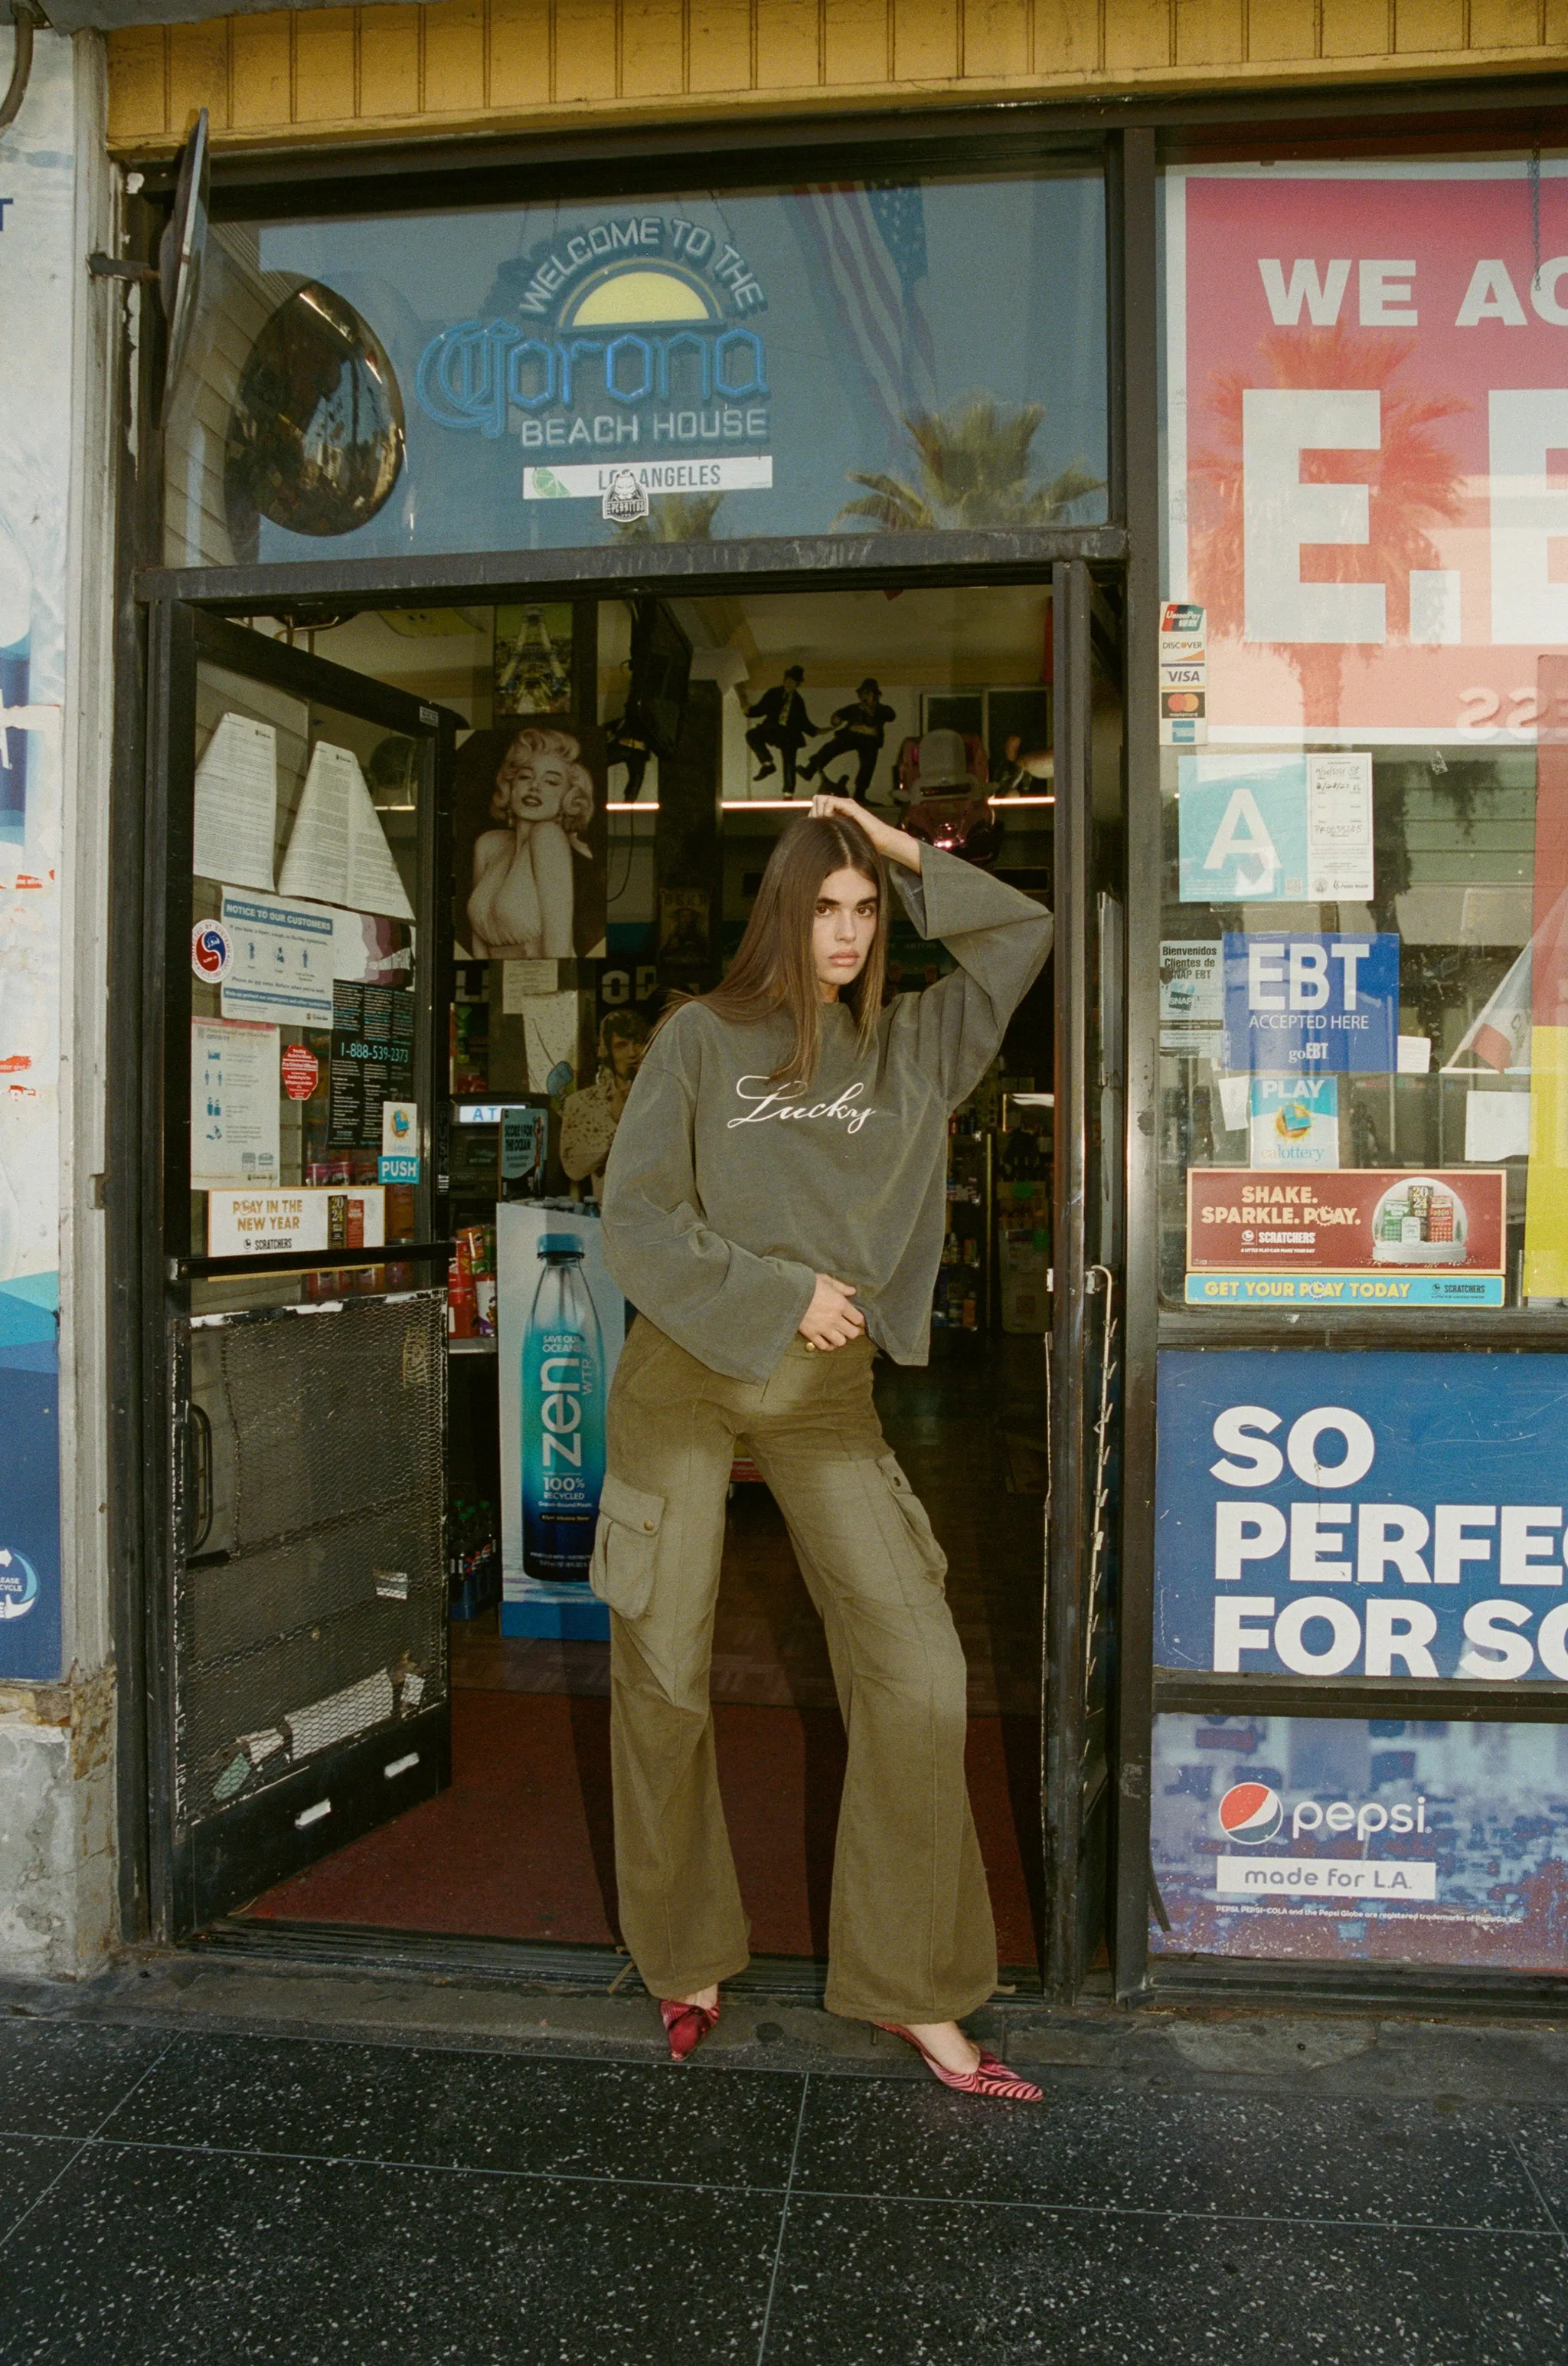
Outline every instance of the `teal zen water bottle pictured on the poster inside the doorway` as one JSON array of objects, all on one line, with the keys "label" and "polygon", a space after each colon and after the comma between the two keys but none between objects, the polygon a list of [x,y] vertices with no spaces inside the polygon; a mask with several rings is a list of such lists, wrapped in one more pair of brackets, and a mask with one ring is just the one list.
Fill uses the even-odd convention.
[{"label": "teal zen water bottle pictured on the poster inside the doorway", "polygon": [[523,1334],[523,1566],[589,1576],[605,1474],[605,1358],[577,1233],[544,1233]]}]

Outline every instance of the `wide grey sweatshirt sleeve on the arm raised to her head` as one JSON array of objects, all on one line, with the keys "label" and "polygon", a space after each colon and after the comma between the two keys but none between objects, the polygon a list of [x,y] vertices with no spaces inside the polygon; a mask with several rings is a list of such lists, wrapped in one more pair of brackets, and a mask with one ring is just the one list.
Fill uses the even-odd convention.
[{"label": "wide grey sweatshirt sleeve on the arm raised to her head", "polygon": [[939,847],[920,847],[920,880],[901,866],[894,880],[918,935],[946,944],[958,963],[951,977],[911,996],[915,1055],[955,1110],[1045,968],[1055,923],[1043,904]]}]

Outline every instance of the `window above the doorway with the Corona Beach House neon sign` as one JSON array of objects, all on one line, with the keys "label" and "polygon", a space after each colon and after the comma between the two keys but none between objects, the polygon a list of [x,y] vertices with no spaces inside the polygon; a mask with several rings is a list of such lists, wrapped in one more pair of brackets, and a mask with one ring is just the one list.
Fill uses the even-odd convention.
[{"label": "window above the doorway with the Corona Beach House neon sign", "polygon": [[229,222],[203,312],[170,565],[1107,516],[1093,161]]}]

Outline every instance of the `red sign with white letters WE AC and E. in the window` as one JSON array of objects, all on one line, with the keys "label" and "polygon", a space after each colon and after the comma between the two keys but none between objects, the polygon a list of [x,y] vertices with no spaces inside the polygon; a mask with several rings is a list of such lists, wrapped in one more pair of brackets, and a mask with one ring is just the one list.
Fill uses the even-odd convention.
[{"label": "red sign with white letters WE AC and E. in the window", "polygon": [[1209,618],[1209,741],[1568,724],[1537,677],[1568,646],[1568,163],[1166,189],[1171,596]]}]

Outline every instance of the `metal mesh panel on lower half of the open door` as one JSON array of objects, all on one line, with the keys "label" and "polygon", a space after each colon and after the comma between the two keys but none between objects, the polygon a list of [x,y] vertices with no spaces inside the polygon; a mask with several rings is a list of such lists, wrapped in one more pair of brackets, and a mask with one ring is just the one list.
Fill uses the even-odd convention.
[{"label": "metal mesh panel on lower half of the open door", "polygon": [[182,1824],[445,1696],[445,1325],[421,1289],[184,1327]]}]

